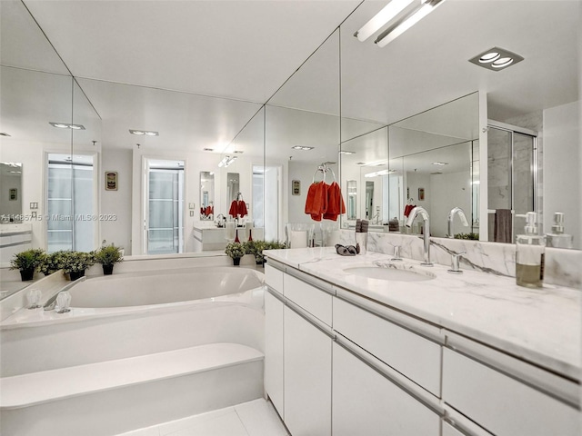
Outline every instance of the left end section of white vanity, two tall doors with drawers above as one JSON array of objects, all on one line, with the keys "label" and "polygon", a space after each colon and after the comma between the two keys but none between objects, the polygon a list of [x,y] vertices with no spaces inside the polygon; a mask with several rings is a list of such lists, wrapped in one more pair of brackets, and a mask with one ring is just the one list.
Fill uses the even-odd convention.
[{"label": "left end section of white vanity, two tall doors with drawers above", "polygon": [[293,436],[331,436],[332,296],[268,263],[266,283],[266,392]]}]

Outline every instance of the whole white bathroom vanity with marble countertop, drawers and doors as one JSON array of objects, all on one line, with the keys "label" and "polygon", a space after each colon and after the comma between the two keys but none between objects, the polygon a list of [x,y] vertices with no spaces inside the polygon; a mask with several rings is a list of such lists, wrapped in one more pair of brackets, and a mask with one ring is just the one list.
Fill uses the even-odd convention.
[{"label": "whole white bathroom vanity with marble countertop, drawers and doors", "polygon": [[579,291],[382,253],[266,256],[265,387],[293,436],[580,434]]}]

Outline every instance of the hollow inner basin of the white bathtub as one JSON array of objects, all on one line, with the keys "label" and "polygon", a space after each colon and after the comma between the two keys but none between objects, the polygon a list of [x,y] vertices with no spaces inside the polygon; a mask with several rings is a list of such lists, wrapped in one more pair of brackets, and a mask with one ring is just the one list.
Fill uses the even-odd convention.
[{"label": "hollow inner basin of the white bathtub", "polygon": [[[70,289],[74,308],[135,307],[225,295],[245,298],[244,292],[261,288],[261,272],[235,267],[196,267],[153,272],[113,274],[80,282]],[[226,299],[223,299],[226,300]]]}]

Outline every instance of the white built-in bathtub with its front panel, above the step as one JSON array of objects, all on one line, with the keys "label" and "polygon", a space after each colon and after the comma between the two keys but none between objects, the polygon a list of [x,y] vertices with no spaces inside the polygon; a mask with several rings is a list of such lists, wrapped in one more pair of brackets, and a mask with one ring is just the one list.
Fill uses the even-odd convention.
[{"label": "white built-in bathtub with its front panel, above the step", "polygon": [[0,374],[217,342],[264,352],[263,282],[262,272],[226,266],[88,278],[69,290],[71,312],[21,309],[2,322]]}]

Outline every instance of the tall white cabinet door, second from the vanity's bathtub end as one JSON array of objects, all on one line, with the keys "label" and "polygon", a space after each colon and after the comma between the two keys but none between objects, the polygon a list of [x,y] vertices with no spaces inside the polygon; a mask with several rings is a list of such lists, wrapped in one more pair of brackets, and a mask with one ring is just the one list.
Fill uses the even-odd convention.
[{"label": "tall white cabinet door, second from the vanity's bathtub end", "polygon": [[284,318],[286,426],[293,436],[331,435],[332,340],[288,307]]}]

